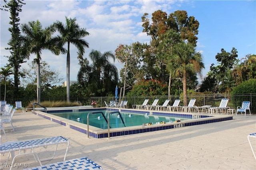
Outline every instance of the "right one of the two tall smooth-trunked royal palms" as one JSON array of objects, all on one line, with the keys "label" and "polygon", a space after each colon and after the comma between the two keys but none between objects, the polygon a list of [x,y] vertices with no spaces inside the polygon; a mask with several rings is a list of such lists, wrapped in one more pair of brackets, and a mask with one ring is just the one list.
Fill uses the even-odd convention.
[{"label": "right one of the two tall smooth-trunked royal palms", "polygon": [[67,66],[66,66],[66,76],[67,76],[67,101],[70,102],[70,43],[75,45],[78,49],[80,55],[84,55],[84,47],[89,47],[87,41],[85,41],[85,36],[89,35],[86,28],[80,28],[76,23],[76,18],[67,18],[66,25],[60,21],[54,23],[56,29],[59,31],[60,35],[55,37],[62,45],[68,44],[67,50]]}]

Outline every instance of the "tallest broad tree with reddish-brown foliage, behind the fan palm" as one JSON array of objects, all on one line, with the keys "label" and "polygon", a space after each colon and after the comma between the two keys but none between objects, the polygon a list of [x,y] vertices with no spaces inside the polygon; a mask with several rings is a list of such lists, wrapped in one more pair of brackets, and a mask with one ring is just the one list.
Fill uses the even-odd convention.
[{"label": "tallest broad tree with reddish-brown foliage, behind the fan palm", "polygon": [[167,17],[166,12],[157,10],[152,13],[152,22],[148,18],[148,13],[142,16],[142,27],[143,32],[151,36],[150,45],[146,47],[144,54],[144,71],[148,72],[151,78],[170,83],[170,68],[168,71],[161,55],[157,55],[157,48],[164,38],[162,35],[173,29],[180,34],[182,40],[196,46],[199,22],[193,16],[188,17],[186,11],[176,11]]}]

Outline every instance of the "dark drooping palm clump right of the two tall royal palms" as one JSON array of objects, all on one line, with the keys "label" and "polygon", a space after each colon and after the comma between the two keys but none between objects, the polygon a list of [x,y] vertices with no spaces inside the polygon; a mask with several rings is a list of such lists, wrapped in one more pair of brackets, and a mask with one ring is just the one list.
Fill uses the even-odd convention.
[{"label": "dark drooping palm clump right of the two tall royal palms", "polygon": [[92,50],[89,54],[92,60],[92,79],[90,83],[94,84],[94,88],[100,90],[103,88],[105,92],[111,91],[118,82],[118,71],[114,64],[109,62],[109,59],[115,61],[115,55],[111,51],[100,53],[100,51]]}]

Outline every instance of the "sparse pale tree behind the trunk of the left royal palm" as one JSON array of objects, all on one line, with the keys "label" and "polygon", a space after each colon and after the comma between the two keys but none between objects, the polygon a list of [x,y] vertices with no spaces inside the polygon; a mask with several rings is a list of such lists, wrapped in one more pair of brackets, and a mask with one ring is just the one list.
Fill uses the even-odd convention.
[{"label": "sparse pale tree behind the trunk of the left royal palm", "polygon": [[[41,86],[43,91],[45,88],[52,87],[53,84],[62,82],[63,78],[60,77],[60,72],[50,68],[50,65],[46,61],[40,63],[41,71]],[[36,62],[28,64],[28,68],[23,68],[22,73],[25,75],[23,82],[26,84],[36,84],[37,71]]]}]

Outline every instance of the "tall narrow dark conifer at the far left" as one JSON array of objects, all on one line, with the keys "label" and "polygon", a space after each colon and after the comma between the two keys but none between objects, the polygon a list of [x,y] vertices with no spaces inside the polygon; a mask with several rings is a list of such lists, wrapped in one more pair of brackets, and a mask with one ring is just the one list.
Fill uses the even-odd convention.
[{"label": "tall narrow dark conifer at the far left", "polygon": [[11,39],[8,42],[8,45],[10,45],[9,48],[5,48],[7,50],[10,50],[10,56],[8,57],[8,61],[10,62],[8,65],[12,66],[13,74],[14,74],[14,93],[18,94],[18,86],[20,84],[20,78],[19,76],[23,76],[20,74],[19,69],[21,67],[20,64],[26,62],[24,59],[26,59],[26,56],[24,54],[24,50],[22,49],[21,45],[21,37],[20,37],[20,28],[19,28],[19,21],[20,18],[19,13],[22,12],[22,5],[25,3],[23,2],[24,0],[10,0],[7,2],[7,0],[4,0],[6,3],[3,5],[1,10],[4,11],[9,11],[10,12],[10,25],[12,27],[8,28],[8,30],[11,33]]}]

